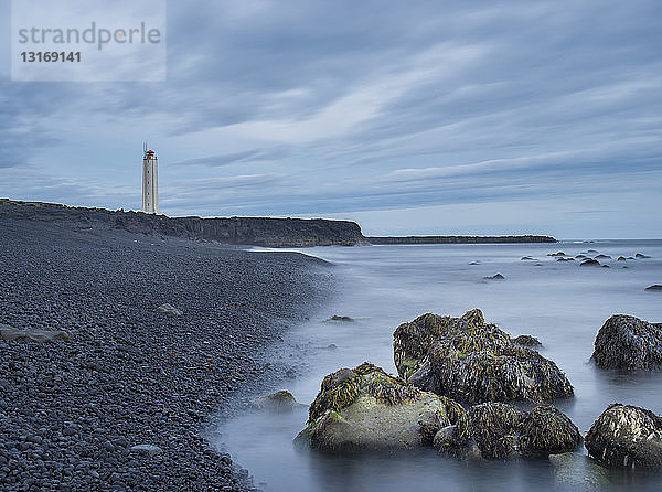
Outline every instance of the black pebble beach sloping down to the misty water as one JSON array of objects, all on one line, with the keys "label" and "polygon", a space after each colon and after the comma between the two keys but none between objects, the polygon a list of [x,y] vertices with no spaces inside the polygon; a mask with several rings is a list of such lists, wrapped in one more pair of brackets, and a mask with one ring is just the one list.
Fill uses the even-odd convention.
[{"label": "black pebble beach sloping down to the misty water", "polygon": [[4,490],[253,490],[201,435],[282,377],[263,353],[321,304],[323,261],[13,218],[0,249],[0,323],[71,333],[0,340]]}]

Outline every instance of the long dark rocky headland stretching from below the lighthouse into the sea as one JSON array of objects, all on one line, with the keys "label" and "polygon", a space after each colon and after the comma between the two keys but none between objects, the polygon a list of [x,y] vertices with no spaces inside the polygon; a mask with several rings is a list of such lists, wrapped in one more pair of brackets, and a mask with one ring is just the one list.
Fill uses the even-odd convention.
[{"label": "long dark rocky headland stretching from below the lighthouse into the sea", "polygon": [[35,220],[75,231],[122,229],[148,236],[181,237],[266,247],[355,246],[367,244],[555,243],[551,236],[366,237],[351,221],[325,218],[168,217],[142,212],[73,207],[57,203],[0,199],[0,220]]}]

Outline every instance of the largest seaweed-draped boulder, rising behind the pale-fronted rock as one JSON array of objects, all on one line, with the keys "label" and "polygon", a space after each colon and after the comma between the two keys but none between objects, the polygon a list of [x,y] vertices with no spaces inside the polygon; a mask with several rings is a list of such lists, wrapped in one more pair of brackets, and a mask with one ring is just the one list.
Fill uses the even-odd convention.
[{"label": "largest seaweed-draped boulder, rising behind the pale-fronted rock", "polygon": [[544,402],[573,396],[556,364],[514,344],[479,309],[461,318],[424,314],[394,332],[394,360],[405,381],[468,403]]}]

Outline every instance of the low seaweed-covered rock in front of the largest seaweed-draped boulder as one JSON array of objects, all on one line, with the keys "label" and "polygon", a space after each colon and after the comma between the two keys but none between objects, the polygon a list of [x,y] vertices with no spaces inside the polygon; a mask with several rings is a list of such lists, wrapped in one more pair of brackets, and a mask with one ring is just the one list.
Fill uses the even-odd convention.
[{"label": "low seaweed-covered rock in front of the largest seaweed-draped boulder", "polygon": [[541,405],[524,413],[504,403],[472,406],[434,439],[441,452],[465,457],[476,447],[484,459],[545,457],[573,451],[580,442],[577,427],[556,407]]}]

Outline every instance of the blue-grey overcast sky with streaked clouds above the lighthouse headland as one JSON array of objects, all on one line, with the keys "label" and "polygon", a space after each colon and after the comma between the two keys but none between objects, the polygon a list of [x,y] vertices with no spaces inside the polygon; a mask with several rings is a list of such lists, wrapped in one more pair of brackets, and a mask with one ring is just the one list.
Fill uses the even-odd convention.
[{"label": "blue-grey overcast sky with streaked clouds above the lighthouse headland", "polygon": [[0,196],[366,234],[662,237],[662,2],[168,4],[168,78],[10,81]]}]

